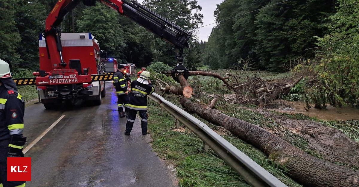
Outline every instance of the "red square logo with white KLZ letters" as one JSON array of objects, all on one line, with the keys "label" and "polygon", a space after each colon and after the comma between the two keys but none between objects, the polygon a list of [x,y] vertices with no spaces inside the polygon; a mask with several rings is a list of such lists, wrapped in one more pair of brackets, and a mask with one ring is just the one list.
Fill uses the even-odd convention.
[{"label": "red square logo with white KLZ letters", "polygon": [[31,157],[8,157],[8,181],[31,181]]}]

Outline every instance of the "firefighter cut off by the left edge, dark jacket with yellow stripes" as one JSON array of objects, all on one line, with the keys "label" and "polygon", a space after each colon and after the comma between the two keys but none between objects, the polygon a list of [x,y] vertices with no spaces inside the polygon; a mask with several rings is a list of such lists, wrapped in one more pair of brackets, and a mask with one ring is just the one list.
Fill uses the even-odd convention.
[{"label": "firefighter cut off by the left edge, dark jacket with yellow stripes", "polygon": [[0,186],[23,187],[25,181],[7,181],[7,157],[24,157],[25,104],[11,79],[9,64],[0,60]]}]

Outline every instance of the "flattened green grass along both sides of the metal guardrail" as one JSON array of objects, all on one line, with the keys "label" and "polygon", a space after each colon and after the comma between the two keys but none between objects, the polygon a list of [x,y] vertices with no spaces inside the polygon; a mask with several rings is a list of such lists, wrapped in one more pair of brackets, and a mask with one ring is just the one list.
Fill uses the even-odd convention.
[{"label": "flattened green grass along both sides of the metal guardrail", "polygon": [[[171,102],[178,105],[178,99],[171,97]],[[168,99],[168,98],[166,98]],[[149,103],[149,132],[153,139],[153,149],[160,157],[176,166],[180,186],[248,186],[233,169],[231,169],[211,149],[205,152],[202,141],[187,128],[184,132],[173,131],[175,120],[167,112],[159,117],[157,103]],[[199,118],[197,115],[195,117]],[[210,128],[218,126],[204,121]],[[300,186],[285,175],[285,168],[268,159],[264,153],[233,135],[222,135],[228,142],[245,153],[248,157],[264,167],[288,186]]]}]

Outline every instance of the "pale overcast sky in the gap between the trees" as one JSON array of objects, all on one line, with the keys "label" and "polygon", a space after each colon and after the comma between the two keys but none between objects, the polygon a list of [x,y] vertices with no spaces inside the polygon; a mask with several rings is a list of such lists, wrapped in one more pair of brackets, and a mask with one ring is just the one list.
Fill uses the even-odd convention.
[{"label": "pale overcast sky in the gap between the trees", "polygon": [[[143,0],[138,0],[139,3],[142,3],[142,1]],[[202,7],[203,25],[215,22],[213,12],[216,10],[217,4],[222,2],[223,0],[198,0],[198,4]],[[208,41],[208,36],[211,34],[214,26],[216,26],[216,24],[200,28],[198,33],[199,40]]]}]

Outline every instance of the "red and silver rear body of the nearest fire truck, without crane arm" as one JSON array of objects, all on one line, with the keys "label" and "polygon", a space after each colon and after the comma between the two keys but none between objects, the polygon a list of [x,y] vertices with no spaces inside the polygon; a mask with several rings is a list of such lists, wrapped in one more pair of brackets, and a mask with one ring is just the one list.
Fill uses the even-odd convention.
[{"label": "red and silver rear body of the nearest fire truck, without crane arm", "polygon": [[34,73],[40,98],[45,108],[70,101],[80,105],[86,100],[101,104],[104,82],[92,82],[91,74],[102,74],[100,48],[91,33],[61,33],[63,58],[69,61],[65,69],[54,70],[47,53],[45,38],[39,38],[40,72]]}]

